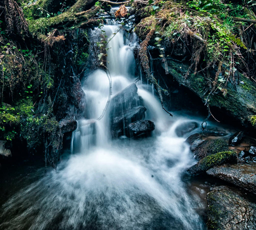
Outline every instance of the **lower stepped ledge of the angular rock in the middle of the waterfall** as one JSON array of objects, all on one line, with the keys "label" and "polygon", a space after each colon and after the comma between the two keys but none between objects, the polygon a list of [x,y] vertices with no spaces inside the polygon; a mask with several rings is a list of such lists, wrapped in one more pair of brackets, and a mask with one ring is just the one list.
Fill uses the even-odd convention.
[{"label": "lower stepped ledge of the angular rock in the middle of the waterfall", "polygon": [[124,115],[112,118],[111,121],[111,134],[112,137],[119,137],[126,133],[126,127],[138,120],[141,120],[145,116],[146,108],[144,106],[138,106],[132,108]]}]

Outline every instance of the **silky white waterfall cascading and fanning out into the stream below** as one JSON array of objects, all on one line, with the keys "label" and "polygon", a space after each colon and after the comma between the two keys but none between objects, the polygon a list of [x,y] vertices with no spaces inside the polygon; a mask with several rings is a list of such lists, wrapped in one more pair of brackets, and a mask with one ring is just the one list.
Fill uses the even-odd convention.
[{"label": "silky white waterfall cascading and fanning out into the stream below", "polygon": [[195,163],[193,155],[186,137],[175,134],[179,124],[191,119],[171,118],[152,89],[136,81],[136,35],[118,25],[102,30],[108,38],[116,33],[107,57],[112,93],[137,82],[145,118],[156,127],[152,136],[111,139],[112,111],[97,120],[108,101],[109,80],[103,70],[94,71],[83,83],[87,119],[79,120],[72,134],[72,155],[2,205],[0,229],[205,229],[195,211],[202,201],[188,194],[182,180]]}]

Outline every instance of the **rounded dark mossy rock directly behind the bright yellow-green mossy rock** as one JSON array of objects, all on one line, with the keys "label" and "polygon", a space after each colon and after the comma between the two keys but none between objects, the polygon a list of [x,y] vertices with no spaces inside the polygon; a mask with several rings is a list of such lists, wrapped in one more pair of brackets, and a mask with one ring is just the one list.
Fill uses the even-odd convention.
[{"label": "rounded dark mossy rock directly behind the bright yellow-green mossy rock", "polygon": [[[191,149],[192,150],[192,149]],[[195,159],[200,160],[206,156],[216,154],[228,150],[228,143],[221,138],[213,140],[205,140],[200,145],[195,146]]]}]

